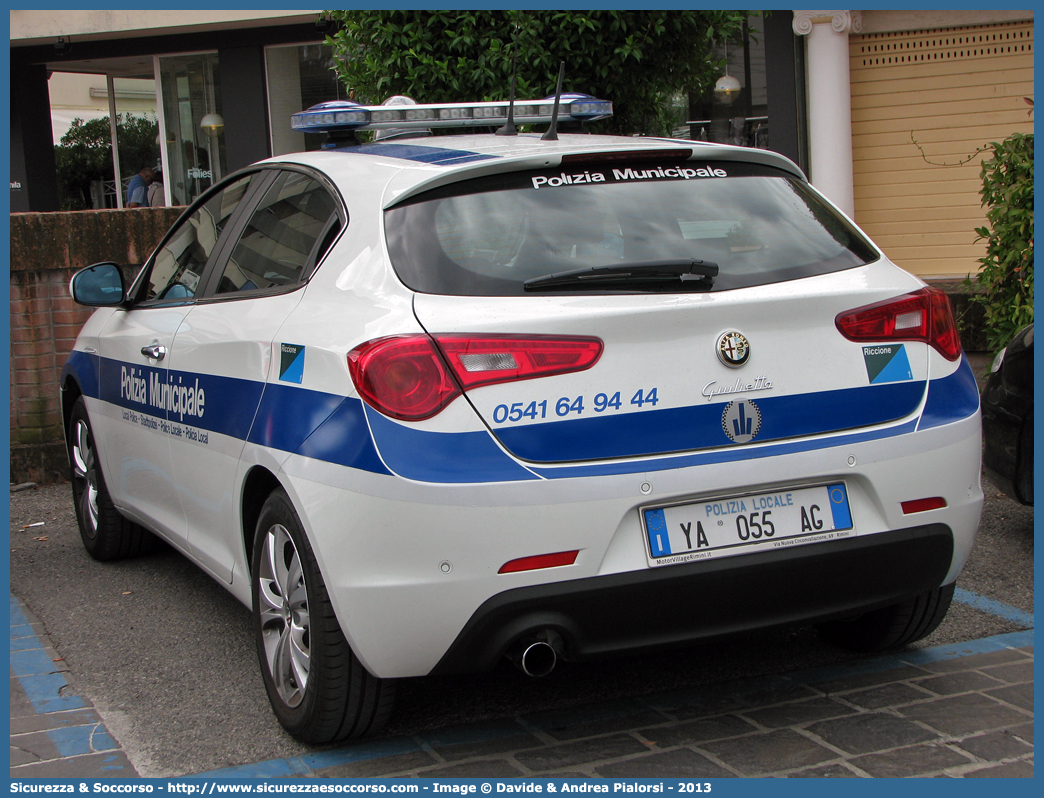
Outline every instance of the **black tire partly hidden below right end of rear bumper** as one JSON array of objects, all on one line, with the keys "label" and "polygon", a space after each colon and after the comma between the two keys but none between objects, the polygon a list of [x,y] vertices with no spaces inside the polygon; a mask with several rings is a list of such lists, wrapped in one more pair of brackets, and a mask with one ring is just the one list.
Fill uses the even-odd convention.
[{"label": "black tire partly hidden below right end of rear bumper", "polygon": [[952,584],[944,585],[855,618],[822,624],[820,634],[852,651],[898,649],[935,631],[950,609],[953,588]]}]

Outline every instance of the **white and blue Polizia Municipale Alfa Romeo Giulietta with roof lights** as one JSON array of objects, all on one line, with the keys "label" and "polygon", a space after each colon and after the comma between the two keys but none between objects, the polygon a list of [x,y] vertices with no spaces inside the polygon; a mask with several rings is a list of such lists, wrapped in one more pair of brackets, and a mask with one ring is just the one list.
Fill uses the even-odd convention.
[{"label": "white and blue Polizia Municipale Alfa Romeo Giulietta with roof lights", "polygon": [[[982,493],[946,297],[779,155],[512,135],[611,113],[552,105],[303,112],[327,148],[73,278],[87,550],[159,536],[250,606],[304,741],[405,677],[783,624],[877,651],[949,606]],[[476,124],[507,135],[354,134]]]}]

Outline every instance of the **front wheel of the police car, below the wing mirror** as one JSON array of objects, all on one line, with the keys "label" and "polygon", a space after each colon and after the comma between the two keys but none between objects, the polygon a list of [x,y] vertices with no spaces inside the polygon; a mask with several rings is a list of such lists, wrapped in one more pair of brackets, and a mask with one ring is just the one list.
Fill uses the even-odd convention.
[{"label": "front wheel of the police car, below the wing mirror", "polygon": [[87,553],[95,560],[106,561],[150,550],[156,538],[120,515],[109,496],[84,397],[76,400],[69,417],[68,446],[76,523]]}]

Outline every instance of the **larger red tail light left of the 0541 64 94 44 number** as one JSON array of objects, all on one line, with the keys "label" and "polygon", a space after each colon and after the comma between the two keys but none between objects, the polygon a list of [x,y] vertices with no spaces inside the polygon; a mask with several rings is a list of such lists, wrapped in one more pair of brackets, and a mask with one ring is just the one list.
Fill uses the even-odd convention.
[{"label": "larger red tail light left of the 0541 64 94 44 number", "polygon": [[348,353],[363,400],[392,418],[437,415],[461,389],[584,371],[601,356],[589,336],[423,333],[366,342]]}]

